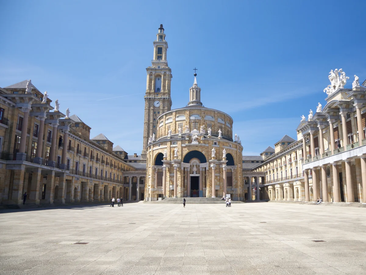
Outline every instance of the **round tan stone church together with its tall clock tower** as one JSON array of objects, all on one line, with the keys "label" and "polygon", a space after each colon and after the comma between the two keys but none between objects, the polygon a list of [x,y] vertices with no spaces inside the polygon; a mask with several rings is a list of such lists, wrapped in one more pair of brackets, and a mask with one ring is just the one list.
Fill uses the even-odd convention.
[{"label": "round tan stone church together with its tall clock tower", "polygon": [[232,138],[233,120],[222,111],[203,106],[197,74],[187,106],[171,110],[167,48],[161,25],[152,66],[146,69],[145,200],[223,195],[242,200],[243,147],[238,137]]}]

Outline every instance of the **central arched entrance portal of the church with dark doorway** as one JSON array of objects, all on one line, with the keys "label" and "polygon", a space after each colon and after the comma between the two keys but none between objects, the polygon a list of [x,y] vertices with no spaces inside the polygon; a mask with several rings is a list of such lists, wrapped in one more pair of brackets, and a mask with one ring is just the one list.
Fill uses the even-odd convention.
[{"label": "central arched entrance portal of the church with dark doorway", "polygon": [[200,169],[202,168],[200,164],[206,162],[205,155],[197,150],[190,151],[184,156],[184,181],[186,181],[187,197],[203,197],[202,178],[205,173]]}]

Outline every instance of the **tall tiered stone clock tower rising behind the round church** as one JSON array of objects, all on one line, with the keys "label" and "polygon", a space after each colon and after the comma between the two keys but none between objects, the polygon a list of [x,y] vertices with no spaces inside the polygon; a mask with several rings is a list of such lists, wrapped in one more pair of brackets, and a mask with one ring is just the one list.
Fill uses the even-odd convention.
[{"label": "tall tiered stone clock tower rising behind the round church", "polygon": [[160,25],[154,44],[154,57],[152,66],[146,68],[146,94],[145,118],[143,124],[142,157],[146,158],[146,147],[149,137],[157,133],[157,118],[159,115],[170,111],[172,99],[170,96],[170,83],[172,70],[168,67],[167,50],[168,42],[165,41],[163,24]]}]

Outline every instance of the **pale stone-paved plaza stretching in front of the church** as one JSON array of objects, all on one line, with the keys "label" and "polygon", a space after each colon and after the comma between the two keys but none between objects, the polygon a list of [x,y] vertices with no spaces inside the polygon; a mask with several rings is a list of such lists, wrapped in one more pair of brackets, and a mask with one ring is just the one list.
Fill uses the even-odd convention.
[{"label": "pale stone-paved plaza stretching in front of the church", "polygon": [[363,208],[138,202],[1,211],[0,274],[366,274]]}]

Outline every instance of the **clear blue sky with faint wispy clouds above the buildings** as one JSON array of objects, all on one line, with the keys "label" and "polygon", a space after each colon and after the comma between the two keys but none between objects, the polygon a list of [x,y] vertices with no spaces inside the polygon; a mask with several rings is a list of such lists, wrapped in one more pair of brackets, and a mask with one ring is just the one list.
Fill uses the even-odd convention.
[{"label": "clear blue sky with faint wispy clouds above the buildings", "polygon": [[[161,3],[161,4],[160,4]],[[91,129],[141,153],[143,95],[164,25],[172,109],[193,68],[201,101],[234,119],[244,155],[325,105],[331,69],[366,78],[365,1],[4,1],[0,87],[32,79]],[[113,99],[107,99],[113,98]]]}]

